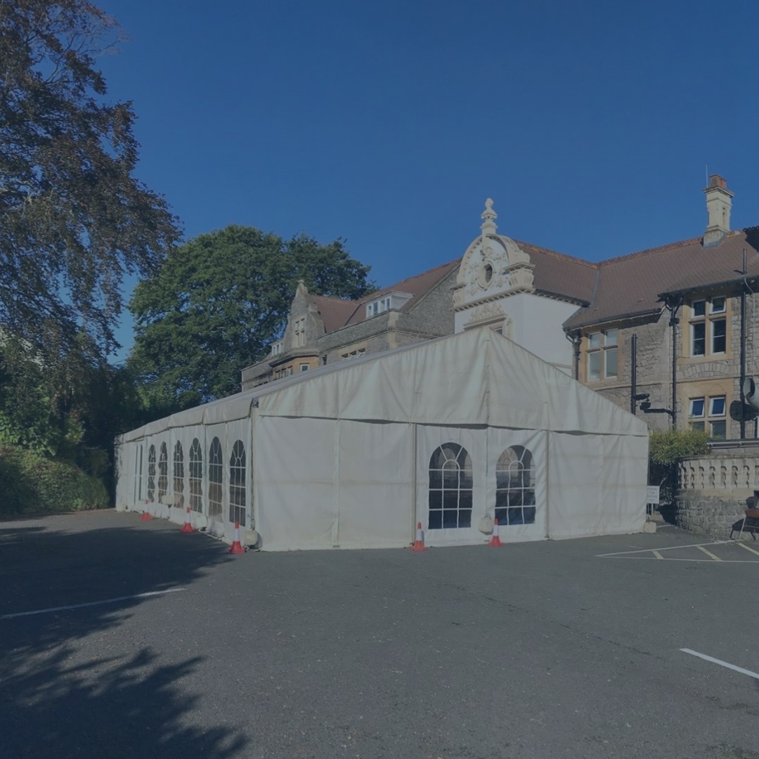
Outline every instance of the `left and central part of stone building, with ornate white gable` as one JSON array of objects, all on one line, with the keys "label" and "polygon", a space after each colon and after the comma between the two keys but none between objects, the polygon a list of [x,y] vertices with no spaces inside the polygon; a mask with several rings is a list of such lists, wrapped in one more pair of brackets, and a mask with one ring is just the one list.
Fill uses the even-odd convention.
[{"label": "left and central part of stone building, with ornate white gable", "polygon": [[481,218],[462,258],[361,300],[324,298],[301,282],[282,339],[243,370],[242,389],[484,325],[572,374],[562,324],[590,302],[595,265],[499,235],[492,200]]}]

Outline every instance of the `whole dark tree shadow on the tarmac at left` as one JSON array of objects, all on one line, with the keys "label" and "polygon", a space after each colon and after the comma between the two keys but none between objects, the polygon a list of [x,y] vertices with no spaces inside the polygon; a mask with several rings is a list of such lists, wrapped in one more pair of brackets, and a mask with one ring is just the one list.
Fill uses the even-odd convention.
[{"label": "whole dark tree shadow on the tarmac at left", "polygon": [[[228,759],[245,745],[236,729],[197,719],[203,713],[200,695],[181,683],[203,657],[162,664],[144,639],[114,643],[106,635],[146,601],[135,595],[187,587],[228,560],[226,546],[181,535],[165,522],[142,525],[132,518],[130,524],[118,516],[118,526],[97,527],[103,520],[96,520],[79,531],[0,524],[3,759]],[[121,597],[130,598],[7,616]]]}]

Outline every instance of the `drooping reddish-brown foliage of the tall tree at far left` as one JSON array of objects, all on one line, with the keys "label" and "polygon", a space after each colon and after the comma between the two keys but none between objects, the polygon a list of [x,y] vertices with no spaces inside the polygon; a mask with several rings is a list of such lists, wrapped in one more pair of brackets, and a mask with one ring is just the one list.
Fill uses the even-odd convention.
[{"label": "drooping reddish-brown foliage of the tall tree at far left", "polygon": [[0,328],[99,354],[116,346],[125,273],[157,269],[181,237],[134,178],[131,102],[106,102],[95,58],[118,26],[87,0],[0,0]]}]

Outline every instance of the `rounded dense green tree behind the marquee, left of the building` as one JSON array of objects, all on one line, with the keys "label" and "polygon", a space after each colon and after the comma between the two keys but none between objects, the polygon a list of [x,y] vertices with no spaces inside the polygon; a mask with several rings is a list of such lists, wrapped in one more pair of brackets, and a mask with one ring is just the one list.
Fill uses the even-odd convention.
[{"label": "rounded dense green tree behind the marquee, left of the building", "polygon": [[153,417],[238,391],[241,369],[282,333],[298,280],[313,293],[360,298],[373,289],[368,272],[342,240],[284,241],[235,225],[172,250],[129,305],[129,363]]}]

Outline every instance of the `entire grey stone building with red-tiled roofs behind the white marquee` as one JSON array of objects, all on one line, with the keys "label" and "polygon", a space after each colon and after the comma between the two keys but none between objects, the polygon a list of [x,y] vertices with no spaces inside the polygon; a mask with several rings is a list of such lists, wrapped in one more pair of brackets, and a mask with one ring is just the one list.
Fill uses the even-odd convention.
[{"label": "entire grey stone building with red-tiled roofs behind the white marquee", "polygon": [[282,339],[243,370],[242,387],[490,326],[654,429],[692,424],[716,439],[755,437],[738,412],[742,377],[759,370],[759,228],[731,230],[723,178],[713,175],[704,193],[702,235],[599,263],[499,234],[488,200],[460,259],[359,301],[301,283]]}]

